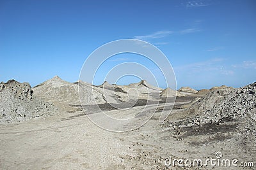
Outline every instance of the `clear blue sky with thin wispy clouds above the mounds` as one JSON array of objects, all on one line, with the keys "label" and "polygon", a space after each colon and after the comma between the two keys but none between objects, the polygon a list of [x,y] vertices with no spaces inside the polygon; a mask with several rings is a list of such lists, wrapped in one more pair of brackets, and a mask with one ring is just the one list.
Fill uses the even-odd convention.
[{"label": "clear blue sky with thin wispy clouds above the mounds", "polygon": [[[177,88],[241,87],[256,81],[255,18],[253,0],[1,0],[0,81],[14,78],[35,86],[55,75],[77,81],[93,50],[136,38],[168,57]],[[116,55],[106,67],[133,59]],[[104,81],[106,70],[95,82]],[[120,83],[132,81],[126,77]]]}]

